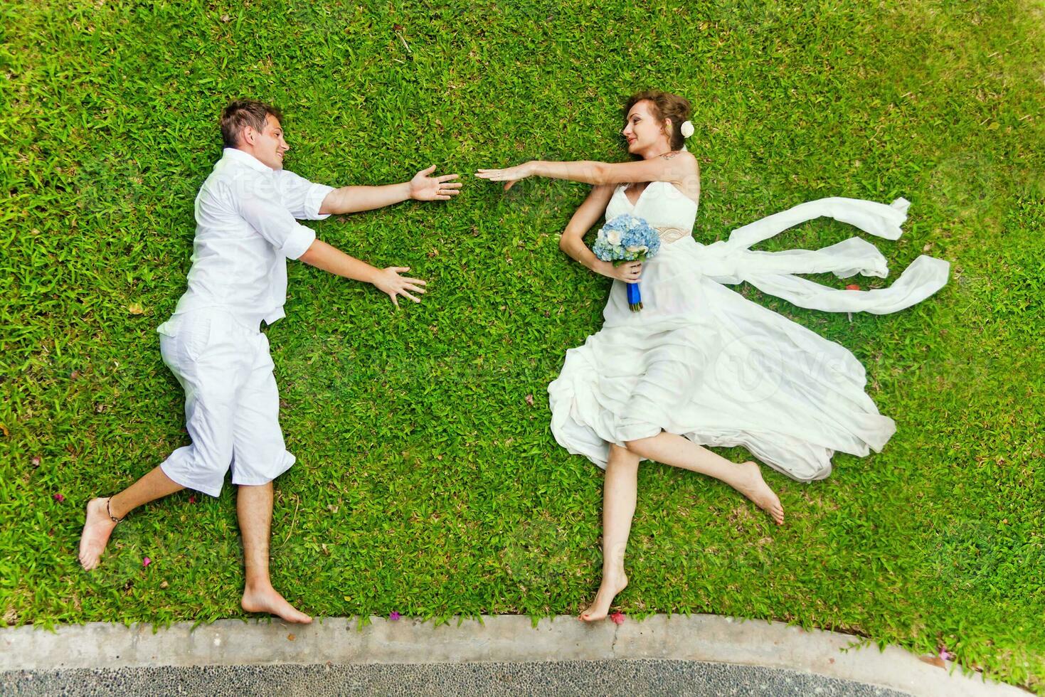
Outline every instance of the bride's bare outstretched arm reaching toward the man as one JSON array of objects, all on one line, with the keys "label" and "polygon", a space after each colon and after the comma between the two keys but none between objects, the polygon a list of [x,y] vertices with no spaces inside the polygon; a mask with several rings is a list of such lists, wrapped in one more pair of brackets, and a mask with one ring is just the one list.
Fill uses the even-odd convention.
[{"label": "bride's bare outstretched arm reaching toward the man", "polygon": [[578,160],[575,162],[549,162],[530,160],[507,169],[480,169],[475,177],[491,182],[505,182],[505,189],[527,177],[549,177],[566,179],[584,184],[624,184],[626,182],[672,182],[681,184],[691,177],[697,177],[697,160],[691,153],[672,150],[649,160],[634,162],[596,162]]}]

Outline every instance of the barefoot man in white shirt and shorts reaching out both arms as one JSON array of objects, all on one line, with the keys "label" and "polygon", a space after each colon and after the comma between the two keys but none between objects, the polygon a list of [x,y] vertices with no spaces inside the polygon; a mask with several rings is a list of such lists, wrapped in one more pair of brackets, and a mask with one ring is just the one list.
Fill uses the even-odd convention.
[{"label": "barefoot man in white shirt and shorts reaching out both arms", "polygon": [[[425,282],[375,269],[316,238],[297,219],[322,219],[414,199],[447,201],[457,175],[432,177],[435,166],[388,186],[314,184],[283,169],[291,146],[280,112],[258,101],[233,101],[222,115],[225,152],[195,200],[196,231],[188,289],[157,331],[163,362],[185,390],[191,445],[114,496],[87,505],[79,562],[90,571],[116,524],[135,508],[184,488],[217,496],[225,474],[239,487],[236,512],[247,581],[242,607],[288,622],[311,622],[272,586],[269,538],[272,482],[294,464],[279,427],[279,394],[261,322],[282,318],[285,258],[373,283],[398,307],[398,296],[420,302]],[[297,219],[296,219],[297,218]]]}]

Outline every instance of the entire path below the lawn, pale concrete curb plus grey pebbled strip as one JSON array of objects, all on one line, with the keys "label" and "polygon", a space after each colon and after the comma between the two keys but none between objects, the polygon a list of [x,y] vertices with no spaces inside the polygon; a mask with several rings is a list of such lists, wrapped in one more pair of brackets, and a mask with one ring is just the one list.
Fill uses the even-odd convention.
[{"label": "entire path below the lawn, pale concrete curb plus grey pebbled strip", "polygon": [[0,630],[0,693],[1026,695],[858,642],[716,615],[19,627]]}]

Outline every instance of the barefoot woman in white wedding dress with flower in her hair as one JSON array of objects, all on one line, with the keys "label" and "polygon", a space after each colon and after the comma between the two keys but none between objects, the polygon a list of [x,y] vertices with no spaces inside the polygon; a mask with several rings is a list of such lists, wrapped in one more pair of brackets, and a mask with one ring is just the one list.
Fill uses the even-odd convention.
[{"label": "barefoot woman in white wedding dress with flower in her hair", "polygon": [[[698,242],[700,168],[684,145],[693,132],[690,102],[642,92],[628,99],[621,134],[631,162],[530,161],[477,172],[506,182],[506,189],[532,176],[594,185],[559,247],[613,283],[602,329],[566,352],[562,373],[548,388],[556,440],[606,470],[602,584],[580,615],[588,622],[605,618],[628,583],[624,552],[641,461],[721,480],[782,525],[784,509],[759,465],[729,462],[704,446],[743,445],[809,482],[830,474],[835,451],[866,456],[896,431],[864,393],[863,366],[849,350],[722,283],[746,280],[804,307],[884,313],[929,297],[948,274],[947,262],[923,256],[889,288],[833,289],[791,274],[859,270],[884,277],[885,259],[859,238],[813,252],[747,249],[821,215],[896,239],[906,218],[902,199],[891,206],[821,199],[745,226],[728,242]],[[621,216],[652,227],[659,253],[614,265],[585,247],[583,235],[600,217],[609,224]],[[627,287],[640,281],[641,305],[629,302]]]}]

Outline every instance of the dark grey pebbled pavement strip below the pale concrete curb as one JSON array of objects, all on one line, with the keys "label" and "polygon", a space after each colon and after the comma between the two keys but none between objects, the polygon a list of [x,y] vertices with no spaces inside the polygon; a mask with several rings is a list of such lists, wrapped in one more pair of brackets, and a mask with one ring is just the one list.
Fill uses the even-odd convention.
[{"label": "dark grey pebbled pavement strip below the pale concrete curb", "polygon": [[772,668],[678,660],[541,664],[204,666],[0,673],[0,694],[78,695],[700,695],[907,697]]}]

